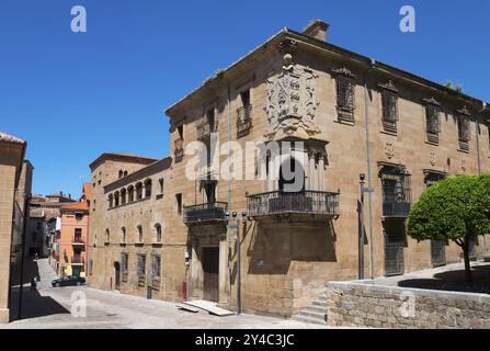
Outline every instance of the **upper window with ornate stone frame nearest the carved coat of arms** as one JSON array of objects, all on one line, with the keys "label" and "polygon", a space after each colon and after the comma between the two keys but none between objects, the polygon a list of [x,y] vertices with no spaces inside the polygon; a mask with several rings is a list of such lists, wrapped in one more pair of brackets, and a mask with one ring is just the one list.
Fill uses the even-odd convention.
[{"label": "upper window with ornate stone frame nearest the carved coat of arms", "polygon": [[354,123],[355,76],[345,67],[334,69],[337,112],[340,122]]}]

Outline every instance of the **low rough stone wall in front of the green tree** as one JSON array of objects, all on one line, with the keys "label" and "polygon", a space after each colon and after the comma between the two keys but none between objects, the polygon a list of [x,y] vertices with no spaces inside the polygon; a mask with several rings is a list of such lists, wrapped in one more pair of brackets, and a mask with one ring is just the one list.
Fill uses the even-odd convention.
[{"label": "low rough stone wall in front of the green tree", "polygon": [[330,282],[327,322],[341,327],[490,329],[490,295]]}]

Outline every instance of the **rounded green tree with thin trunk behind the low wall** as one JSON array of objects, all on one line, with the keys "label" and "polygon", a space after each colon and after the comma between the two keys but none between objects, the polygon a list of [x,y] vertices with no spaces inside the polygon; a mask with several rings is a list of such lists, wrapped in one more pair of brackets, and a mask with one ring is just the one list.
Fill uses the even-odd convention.
[{"label": "rounded green tree with thin trunk behind the low wall", "polygon": [[407,233],[418,241],[456,242],[470,282],[469,242],[490,233],[490,176],[449,177],[430,186],[412,206]]}]

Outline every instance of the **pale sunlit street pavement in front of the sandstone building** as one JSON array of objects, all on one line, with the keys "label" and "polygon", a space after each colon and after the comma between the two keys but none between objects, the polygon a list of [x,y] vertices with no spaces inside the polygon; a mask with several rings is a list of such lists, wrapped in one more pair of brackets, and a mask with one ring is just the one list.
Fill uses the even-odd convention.
[{"label": "pale sunlit street pavement in front of the sandstone building", "polygon": [[[0,328],[204,328],[204,329],[311,329],[322,326],[278,318],[240,315],[213,316],[204,310],[193,314],[176,308],[174,303],[146,299],[87,286],[50,287],[53,271],[47,260],[38,260],[41,282],[37,291],[24,287],[25,319]],[[87,317],[71,316],[71,296],[81,293],[87,297]],[[15,306],[15,304],[14,304]]]}]

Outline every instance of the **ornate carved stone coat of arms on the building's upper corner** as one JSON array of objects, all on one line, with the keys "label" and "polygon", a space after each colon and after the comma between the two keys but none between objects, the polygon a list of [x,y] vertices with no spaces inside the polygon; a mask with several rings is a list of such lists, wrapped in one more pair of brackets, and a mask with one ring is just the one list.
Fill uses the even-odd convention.
[{"label": "ornate carved stone coat of arms on the building's upper corner", "polygon": [[281,140],[286,137],[308,139],[320,133],[315,123],[318,106],[316,78],[312,70],[296,65],[290,54],[284,55],[282,72],[267,79],[269,129],[265,137]]}]

